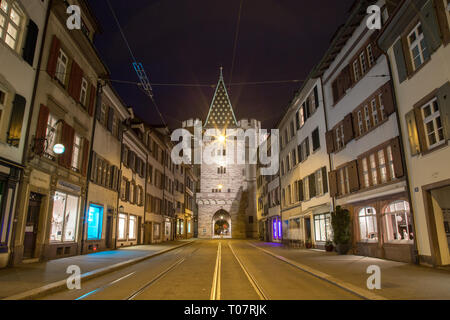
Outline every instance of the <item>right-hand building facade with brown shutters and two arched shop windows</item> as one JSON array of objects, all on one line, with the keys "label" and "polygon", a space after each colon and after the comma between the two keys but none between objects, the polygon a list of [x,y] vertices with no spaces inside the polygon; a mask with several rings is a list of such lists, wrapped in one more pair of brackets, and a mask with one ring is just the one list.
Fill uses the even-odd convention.
[{"label": "right-hand building facade with brown shutters and two arched shop windows", "polygon": [[388,59],[366,25],[365,10],[384,1],[355,2],[318,66],[331,156],[330,195],[348,209],[358,255],[412,262],[414,220],[394,106]]}]

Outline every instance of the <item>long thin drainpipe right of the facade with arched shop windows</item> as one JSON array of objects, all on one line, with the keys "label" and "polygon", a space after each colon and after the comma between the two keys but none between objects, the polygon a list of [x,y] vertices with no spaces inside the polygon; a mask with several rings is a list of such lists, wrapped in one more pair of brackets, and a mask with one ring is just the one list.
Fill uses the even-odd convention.
[{"label": "long thin drainpipe right of the facade with arched shop windows", "polygon": [[[389,67],[389,74],[392,75],[392,65],[391,65],[391,60],[389,59],[389,55],[387,54],[387,52],[383,52],[384,55],[386,56],[386,60],[387,60],[387,64]],[[405,181],[406,181],[406,190],[408,193],[408,201],[411,204],[409,206],[409,210],[411,213],[411,222],[412,222],[412,227],[413,227],[413,234],[414,234],[414,264],[419,264],[419,250],[417,249],[417,232],[416,232],[416,223],[415,223],[415,217],[414,217],[414,208],[412,206],[412,197],[411,197],[411,184],[409,182],[409,174],[408,174],[408,167],[406,165],[406,153],[405,153],[405,147],[403,144],[403,134],[402,134],[402,124],[400,121],[400,113],[398,112],[398,103],[397,103],[397,95],[395,92],[395,88],[394,88],[394,83],[392,80],[392,77],[390,77],[390,82],[391,82],[391,92],[393,95],[393,99],[394,99],[394,109],[395,109],[395,115],[397,118],[397,126],[398,126],[398,130],[399,130],[399,140],[400,140],[400,151],[402,154],[402,165],[403,165],[403,171],[405,172]]]}]

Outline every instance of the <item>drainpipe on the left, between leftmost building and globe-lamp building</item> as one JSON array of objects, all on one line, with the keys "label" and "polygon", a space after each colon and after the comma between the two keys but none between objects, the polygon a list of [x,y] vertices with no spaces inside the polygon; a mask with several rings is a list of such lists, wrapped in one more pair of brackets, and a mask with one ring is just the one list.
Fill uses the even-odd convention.
[{"label": "drainpipe on the left, between leftmost building and globe-lamp building", "polygon": [[[51,11],[52,4],[53,4],[53,0],[49,0],[48,6],[47,6],[47,12],[46,12],[46,16],[45,16],[44,29],[42,30],[41,48],[39,49],[38,64],[36,66],[36,75],[34,77],[33,93],[31,95],[31,101],[30,101],[30,111],[28,112],[27,130],[25,133],[25,145],[23,147],[23,153],[22,153],[22,165],[24,167],[26,166],[26,162],[28,162],[28,157],[27,157],[28,149],[29,149],[28,139],[30,136],[31,118],[32,118],[33,111],[34,111],[34,103],[36,101],[37,85],[39,82],[39,74],[40,74],[41,64],[42,64],[42,53],[44,52],[45,35],[47,34],[48,20],[50,18],[50,11]],[[23,175],[21,177],[21,180],[23,182]],[[16,243],[16,229],[17,229],[17,222],[18,222],[19,214],[20,214],[20,212],[18,212],[17,204],[16,204],[15,210],[16,210],[16,212],[15,212],[14,218],[13,218],[13,228],[12,228],[12,235],[11,235],[12,246],[10,246],[10,249],[11,249],[10,264],[14,263],[14,248],[15,248],[15,243]],[[25,215],[25,213],[23,213],[23,214]]]}]

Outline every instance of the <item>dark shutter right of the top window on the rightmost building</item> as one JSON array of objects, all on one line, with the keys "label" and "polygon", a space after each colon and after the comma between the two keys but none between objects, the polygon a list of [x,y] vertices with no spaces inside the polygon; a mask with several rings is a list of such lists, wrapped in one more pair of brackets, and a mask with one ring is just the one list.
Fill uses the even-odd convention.
[{"label": "dark shutter right of the top window on the rightmost building", "polygon": [[[442,2],[442,0],[439,0]],[[431,49],[430,54],[435,52],[442,44],[439,23],[436,17],[434,6],[435,1],[428,1],[420,10],[420,21],[422,22],[423,35],[428,47]]]}]

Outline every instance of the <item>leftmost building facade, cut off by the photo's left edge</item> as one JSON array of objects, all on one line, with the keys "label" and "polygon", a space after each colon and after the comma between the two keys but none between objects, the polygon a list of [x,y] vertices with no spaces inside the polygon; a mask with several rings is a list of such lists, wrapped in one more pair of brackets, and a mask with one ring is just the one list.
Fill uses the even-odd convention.
[{"label": "leftmost building facade, cut off by the photo's left edge", "polygon": [[25,164],[47,7],[48,1],[0,3],[0,268],[15,249],[18,182]]}]

